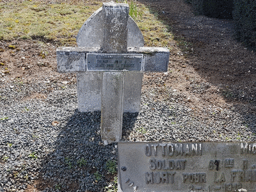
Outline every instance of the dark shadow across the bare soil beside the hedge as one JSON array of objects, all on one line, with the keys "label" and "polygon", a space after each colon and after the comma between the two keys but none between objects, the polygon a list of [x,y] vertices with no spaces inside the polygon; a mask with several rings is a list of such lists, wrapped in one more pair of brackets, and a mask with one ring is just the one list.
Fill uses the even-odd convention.
[{"label": "dark shadow across the bare soil beside the hedge", "polygon": [[218,94],[243,116],[242,128],[256,134],[256,54],[235,40],[233,21],[195,16],[182,0],[140,3],[170,26],[189,65],[217,86]]}]

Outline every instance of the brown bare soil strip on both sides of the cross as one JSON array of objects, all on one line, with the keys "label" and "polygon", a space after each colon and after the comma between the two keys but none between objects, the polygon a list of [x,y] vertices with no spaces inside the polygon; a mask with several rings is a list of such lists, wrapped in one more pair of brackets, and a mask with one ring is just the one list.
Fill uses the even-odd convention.
[{"label": "brown bare soil strip on both sides of the cross", "polygon": [[[198,115],[204,115],[205,106],[220,110],[232,106],[256,112],[256,54],[234,40],[232,20],[195,16],[191,6],[183,1],[141,3],[150,6],[160,20],[170,25],[177,39],[168,45],[171,47],[168,76],[157,75],[162,83],[150,86],[164,84],[165,89],[172,87],[182,93],[187,98],[186,104]],[[12,50],[8,45],[18,49]],[[0,42],[0,49],[3,82],[17,78],[23,83],[68,80],[66,75],[56,72],[56,45],[51,42],[14,40]],[[76,83],[75,78],[72,76],[68,82]],[[154,74],[148,74],[144,81],[154,82],[153,79]]]}]

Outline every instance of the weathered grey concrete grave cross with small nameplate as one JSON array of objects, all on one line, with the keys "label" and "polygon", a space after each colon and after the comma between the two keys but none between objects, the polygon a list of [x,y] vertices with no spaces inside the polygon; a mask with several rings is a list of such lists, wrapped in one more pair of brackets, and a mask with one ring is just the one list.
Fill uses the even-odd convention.
[{"label": "weathered grey concrete grave cross with small nameplate", "polygon": [[[128,4],[103,3],[102,9],[93,15],[98,15],[99,20],[103,19],[103,28],[100,28],[102,36],[99,36],[102,40],[97,40],[96,36],[92,36],[92,39],[96,41],[95,45],[98,45],[96,47],[92,43],[90,44],[92,47],[86,45],[86,47],[58,48],[56,51],[58,72],[78,73],[78,99],[79,86],[87,88],[89,84],[90,93],[94,93],[93,95],[96,96],[96,98],[90,98],[92,102],[101,100],[102,140],[119,141],[122,137],[124,99],[132,98],[132,93],[135,93],[134,96],[137,97],[138,102],[142,72],[166,72],[170,52],[161,47],[127,47],[129,45],[129,27],[136,27],[136,29],[130,29],[130,33],[140,31],[129,17]],[[85,22],[85,26],[90,24],[90,20],[95,17],[93,15],[88,19],[89,22],[87,22],[88,20],[87,23]],[[81,36],[83,27],[77,35],[77,40],[81,42],[84,40]],[[93,29],[90,29],[89,26],[86,30],[92,33],[90,30]],[[130,44],[136,44],[132,42],[136,40],[136,37],[132,37],[131,34],[130,37]],[[143,44],[143,38],[138,44]],[[84,75],[84,73],[89,75]],[[80,81],[85,84],[81,84]],[[133,85],[136,92],[132,92]],[[129,96],[127,97],[127,95]]]}]

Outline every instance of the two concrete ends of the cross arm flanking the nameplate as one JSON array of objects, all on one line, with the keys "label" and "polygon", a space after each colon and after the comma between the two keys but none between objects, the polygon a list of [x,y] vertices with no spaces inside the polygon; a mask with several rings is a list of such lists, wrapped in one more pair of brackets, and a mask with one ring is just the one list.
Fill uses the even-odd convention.
[{"label": "two concrete ends of the cross arm flanking the nameplate", "polygon": [[[61,47],[58,48],[56,52],[57,58],[60,58],[57,60],[58,72],[79,72],[86,71],[86,62],[77,62],[77,60],[72,60],[72,58],[78,57],[79,54],[84,56],[84,54],[87,53],[102,53],[102,50],[99,48],[92,49],[86,47]],[[127,54],[143,54],[141,72],[166,72],[168,70],[170,52],[166,48],[129,47]],[[82,60],[82,57],[80,58]]]}]

